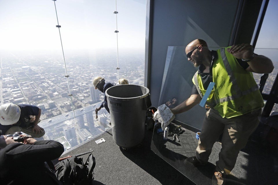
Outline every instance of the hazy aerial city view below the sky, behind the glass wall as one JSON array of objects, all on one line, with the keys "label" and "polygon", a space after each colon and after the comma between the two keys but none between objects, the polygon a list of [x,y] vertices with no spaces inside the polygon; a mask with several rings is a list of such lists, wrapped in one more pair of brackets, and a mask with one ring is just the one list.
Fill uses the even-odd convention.
[{"label": "hazy aerial city view below the sky, behind the glass wall", "polygon": [[[1,53],[0,57],[1,104],[26,103],[41,108],[39,126],[45,129],[41,139],[57,140],[70,149],[111,127],[105,108],[96,119],[95,109],[104,94],[95,90],[93,79],[101,76],[106,82],[118,83],[115,52],[65,58],[69,86],[61,54]],[[144,52],[125,53],[119,61],[120,78],[144,85],[144,65]]]}]

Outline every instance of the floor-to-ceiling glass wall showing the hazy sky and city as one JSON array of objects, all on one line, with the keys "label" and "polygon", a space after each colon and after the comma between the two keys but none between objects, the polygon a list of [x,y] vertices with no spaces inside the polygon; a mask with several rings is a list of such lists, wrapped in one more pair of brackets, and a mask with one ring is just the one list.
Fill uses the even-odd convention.
[{"label": "floor-to-ceiling glass wall showing the hazy sky and city", "polygon": [[104,108],[96,119],[104,94],[93,79],[144,84],[145,14],[144,0],[1,1],[1,104],[41,108],[43,139],[65,149],[107,131]]}]

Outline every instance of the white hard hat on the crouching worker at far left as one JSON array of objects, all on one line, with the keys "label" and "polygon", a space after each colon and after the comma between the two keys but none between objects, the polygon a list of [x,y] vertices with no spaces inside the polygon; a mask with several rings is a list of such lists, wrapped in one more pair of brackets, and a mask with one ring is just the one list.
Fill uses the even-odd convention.
[{"label": "white hard hat on the crouching worker at far left", "polygon": [[12,125],[17,123],[20,117],[19,106],[13,103],[5,103],[0,106],[0,124]]}]

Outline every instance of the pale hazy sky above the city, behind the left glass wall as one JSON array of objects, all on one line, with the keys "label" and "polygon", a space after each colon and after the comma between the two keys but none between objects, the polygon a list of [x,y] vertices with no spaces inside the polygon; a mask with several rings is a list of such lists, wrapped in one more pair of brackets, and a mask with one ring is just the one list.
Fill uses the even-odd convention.
[{"label": "pale hazy sky above the city, behind the left glass wall", "polygon": [[[64,49],[117,47],[115,0],[55,1]],[[119,47],[145,48],[146,0],[118,0]],[[0,49],[61,49],[52,0],[0,0]]]}]

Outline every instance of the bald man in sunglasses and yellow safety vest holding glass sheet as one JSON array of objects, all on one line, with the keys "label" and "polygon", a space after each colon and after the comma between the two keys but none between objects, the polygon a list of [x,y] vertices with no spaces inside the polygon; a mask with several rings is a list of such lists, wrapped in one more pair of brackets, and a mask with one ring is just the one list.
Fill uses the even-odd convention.
[{"label": "bald man in sunglasses and yellow safety vest holding glass sheet", "polygon": [[252,72],[271,73],[274,66],[269,58],[255,54],[249,44],[210,51],[204,40],[196,39],[186,46],[185,52],[188,61],[199,69],[192,79],[191,96],[171,109],[173,114],[200,103],[210,82],[215,84],[206,99],[210,109],[203,121],[196,156],[184,162],[194,166],[206,164],[213,144],[223,133],[222,149],[212,178],[213,184],[221,185],[260,121],[264,101]]}]

